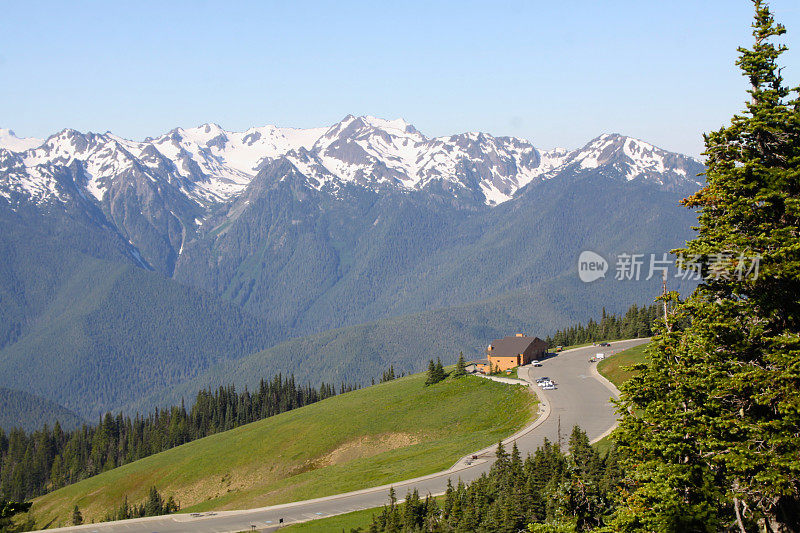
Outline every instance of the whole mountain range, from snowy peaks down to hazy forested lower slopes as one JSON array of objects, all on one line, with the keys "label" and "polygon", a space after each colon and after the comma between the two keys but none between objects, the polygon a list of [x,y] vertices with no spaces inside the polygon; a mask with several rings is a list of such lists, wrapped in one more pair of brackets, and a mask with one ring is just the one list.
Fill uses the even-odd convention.
[{"label": "whole mountain range, from snowy peaks down to hazy forested lower slopes", "polygon": [[681,244],[702,171],[617,134],[543,151],[374,117],[143,141],[0,130],[0,386],[94,416],[545,335],[651,298],[580,284],[577,255]]}]

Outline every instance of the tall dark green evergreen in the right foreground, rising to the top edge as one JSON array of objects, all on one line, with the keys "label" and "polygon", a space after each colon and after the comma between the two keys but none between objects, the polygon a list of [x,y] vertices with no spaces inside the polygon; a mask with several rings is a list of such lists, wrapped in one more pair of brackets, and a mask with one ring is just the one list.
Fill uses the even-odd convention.
[{"label": "tall dark green evergreen in the right foreground, rising to the top edge", "polygon": [[705,137],[707,184],[684,201],[699,232],[675,250],[704,281],[663,297],[651,363],[623,387],[617,530],[800,531],[800,99],[777,65],[785,29],[754,5],[750,99]]}]

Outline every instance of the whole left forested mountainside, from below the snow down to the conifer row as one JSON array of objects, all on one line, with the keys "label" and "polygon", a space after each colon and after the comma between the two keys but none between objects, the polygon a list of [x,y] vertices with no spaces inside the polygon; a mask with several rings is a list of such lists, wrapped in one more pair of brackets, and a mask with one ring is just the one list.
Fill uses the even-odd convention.
[{"label": "whole left forested mountainside, from below the snow down to the conifer row", "polygon": [[[98,414],[272,343],[276,328],[131,264],[109,228],[0,208],[0,386]],[[78,216],[78,215],[76,215]],[[263,373],[259,373],[263,375]]]}]

